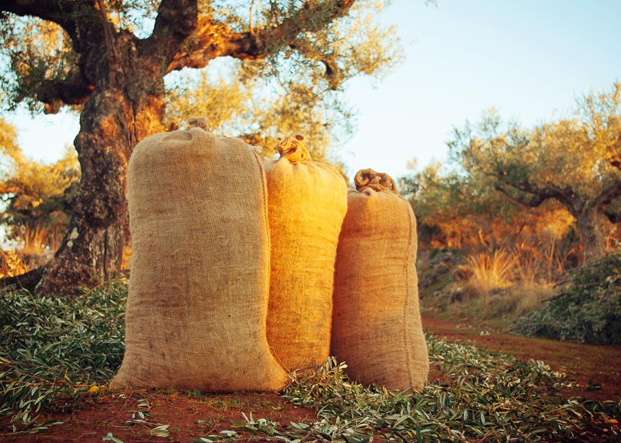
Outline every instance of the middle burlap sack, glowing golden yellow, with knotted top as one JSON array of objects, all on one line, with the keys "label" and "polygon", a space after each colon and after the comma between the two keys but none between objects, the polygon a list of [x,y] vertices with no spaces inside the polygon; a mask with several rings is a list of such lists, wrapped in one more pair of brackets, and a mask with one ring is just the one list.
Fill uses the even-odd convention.
[{"label": "middle burlap sack, glowing golden yellow, with knotted top", "polygon": [[266,162],[272,244],[268,342],[286,369],[322,364],[330,351],[334,262],[347,185],[286,137]]}]

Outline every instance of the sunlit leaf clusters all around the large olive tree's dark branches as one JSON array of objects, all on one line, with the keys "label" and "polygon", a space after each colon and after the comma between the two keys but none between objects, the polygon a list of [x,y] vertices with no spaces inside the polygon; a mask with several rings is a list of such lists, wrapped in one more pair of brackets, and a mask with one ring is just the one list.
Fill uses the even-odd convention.
[{"label": "sunlit leaf clusters all around the large olive tree's dark branches", "polygon": [[[105,3],[117,29],[148,37],[158,1]],[[278,138],[302,133],[315,158],[334,161],[328,146],[344,141],[353,129],[353,110],[341,94],[344,83],[359,75],[379,79],[401,59],[395,30],[377,22],[388,3],[359,0],[346,17],[311,27],[283,48],[279,41],[262,42],[275,47],[264,59],[228,59],[199,72],[168,74],[167,126],[206,116],[211,130],[243,136],[264,147],[267,155],[273,154]],[[300,6],[301,1],[199,1],[199,12],[231,32],[252,32],[282,23]],[[319,22],[321,17],[313,19]],[[5,107],[24,103],[32,112],[57,112],[62,103],[41,104],[51,95],[48,88],[58,91],[79,75],[66,33],[54,23],[8,14],[0,25],[0,39]]]}]

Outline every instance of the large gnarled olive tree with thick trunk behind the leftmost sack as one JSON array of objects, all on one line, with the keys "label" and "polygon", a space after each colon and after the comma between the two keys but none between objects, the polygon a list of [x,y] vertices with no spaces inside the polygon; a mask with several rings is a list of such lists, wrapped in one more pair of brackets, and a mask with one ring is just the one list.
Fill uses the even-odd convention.
[{"label": "large gnarled olive tree with thick trunk behind the leftmost sack", "polygon": [[[4,1],[6,103],[48,113],[69,105],[81,112],[74,142],[81,181],[68,232],[48,268],[22,282],[38,282],[41,293],[66,292],[119,271],[129,237],[126,167],[142,138],[164,130],[166,74],[228,56],[242,61],[240,75],[283,90],[297,85],[329,103],[346,79],[380,74],[396,58],[388,30],[373,24],[377,3]],[[286,95],[281,99],[277,110],[309,111],[296,110]],[[268,115],[277,119],[279,112]],[[246,125],[244,134],[260,129]]]}]

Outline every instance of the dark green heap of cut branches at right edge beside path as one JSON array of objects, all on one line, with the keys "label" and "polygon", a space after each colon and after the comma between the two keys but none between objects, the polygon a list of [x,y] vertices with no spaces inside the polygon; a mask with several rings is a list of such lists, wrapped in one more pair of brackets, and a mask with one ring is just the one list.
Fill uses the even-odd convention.
[{"label": "dark green heap of cut branches at right edge beside path", "polygon": [[527,336],[621,343],[621,252],[575,269],[566,289],[542,309],[518,318],[511,331]]}]

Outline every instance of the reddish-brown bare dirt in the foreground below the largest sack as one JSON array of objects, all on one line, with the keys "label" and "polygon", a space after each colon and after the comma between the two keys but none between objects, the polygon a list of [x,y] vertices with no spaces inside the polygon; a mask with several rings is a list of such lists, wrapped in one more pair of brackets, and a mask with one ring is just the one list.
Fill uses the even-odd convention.
[{"label": "reddish-brown bare dirt in the foreground below the largest sack", "polygon": [[[148,406],[146,406],[148,401]],[[270,418],[288,426],[290,422],[309,422],[315,411],[286,403],[275,393],[237,393],[202,395],[200,398],[172,392],[124,391],[94,395],[90,404],[68,414],[55,414],[49,420],[64,422],[48,431],[19,437],[4,437],[14,442],[101,442],[108,433],[128,442],[188,442],[192,437],[217,434],[231,429],[231,420],[244,420],[242,412],[255,418]],[[138,411],[148,416],[141,419]],[[133,416],[133,417],[132,417]],[[132,420],[135,420],[133,423]],[[150,426],[139,422],[144,420]],[[137,422],[136,422],[137,421]],[[168,438],[151,432],[155,424],[170,424]],[[0,437],[1,439],[2,437]],[[261,440],[253,440],[261,441]]]}]

